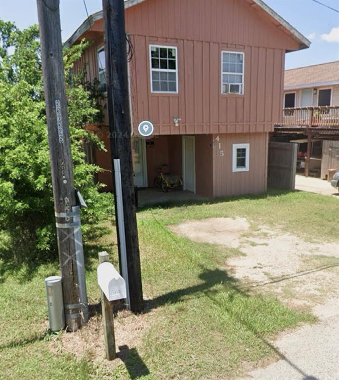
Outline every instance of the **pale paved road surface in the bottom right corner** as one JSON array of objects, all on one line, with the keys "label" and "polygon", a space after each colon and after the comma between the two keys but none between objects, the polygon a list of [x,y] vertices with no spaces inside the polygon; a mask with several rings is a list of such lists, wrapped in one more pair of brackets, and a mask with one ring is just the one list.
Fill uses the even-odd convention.
[{"label": "pale paved road surface in the bottom right corner", "polygon": [[333,313],[274,342],[280,360],[242,380],[338,380],[339,300]]}]

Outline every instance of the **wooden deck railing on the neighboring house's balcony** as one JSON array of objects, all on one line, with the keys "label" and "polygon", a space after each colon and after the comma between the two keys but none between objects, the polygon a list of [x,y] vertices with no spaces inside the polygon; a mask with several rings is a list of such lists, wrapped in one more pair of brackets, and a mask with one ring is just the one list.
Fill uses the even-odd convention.
[{"label": "wooden deck railing on the neighboring house's balcony", "polygon": [[339,106],[284,108],[275,126],[339,128]]}]

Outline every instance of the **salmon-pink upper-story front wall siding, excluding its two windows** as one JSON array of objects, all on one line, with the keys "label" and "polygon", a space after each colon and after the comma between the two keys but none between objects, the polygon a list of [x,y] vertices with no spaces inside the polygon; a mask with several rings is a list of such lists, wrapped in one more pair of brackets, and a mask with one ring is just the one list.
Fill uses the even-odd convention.
[{"label": "salmon-pink upper-story front wall siding, excluding its two windows", "polygon": [[[282,115],[285,50],[297,43],[239,0],[147,0],[126,11],[134,131],[268,132]],[[149,45],[177,47],[178,94],[152,94]],[[244,95],[221,95],[221,51],[245,53]],[[173,118],[181,118],[175,127]]]}]

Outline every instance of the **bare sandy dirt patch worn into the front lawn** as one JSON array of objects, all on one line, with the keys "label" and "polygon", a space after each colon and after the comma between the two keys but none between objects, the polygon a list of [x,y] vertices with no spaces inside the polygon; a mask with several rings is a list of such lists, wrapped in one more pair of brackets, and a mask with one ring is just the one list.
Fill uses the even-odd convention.
[{"label": "bare sandy dirt patch worn into the front lawn", "polygon": [[229,258],[225,269],[253,290],[270,292],[299,308],[314,309],[320,318],[339,309],[337,242],[307,242],[266,226],[254,231],[245,218],[190,220],[170,226],[170,230],[191,240],[240,250],[244,255]]}]

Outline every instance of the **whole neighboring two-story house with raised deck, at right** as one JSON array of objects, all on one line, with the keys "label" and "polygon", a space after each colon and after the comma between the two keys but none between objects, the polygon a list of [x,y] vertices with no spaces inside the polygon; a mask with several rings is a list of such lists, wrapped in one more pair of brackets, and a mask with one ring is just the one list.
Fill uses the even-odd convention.
[{"label": "whole neighboring two-story house with raised deck, at right", "polygon": [[339,170],[339,61],[286,70],[284,108],[273,139],[298,144],[297,170],[321,179]]}]

